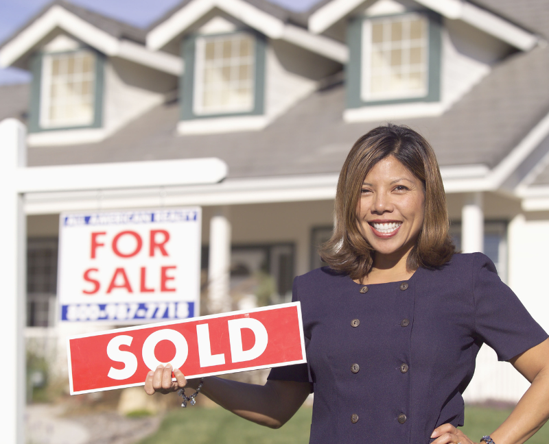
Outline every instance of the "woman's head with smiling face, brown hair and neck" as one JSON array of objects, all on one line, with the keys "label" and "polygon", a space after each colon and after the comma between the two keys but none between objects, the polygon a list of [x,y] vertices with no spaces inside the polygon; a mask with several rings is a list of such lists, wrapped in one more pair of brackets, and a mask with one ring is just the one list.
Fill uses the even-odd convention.
[{"label": "woman's head with smiling face, brown hair and neck", "polygon": [[[384,263],[373,269],[375,251]],[[396,125],[359,138],[340,174],[336,228],[320,249],[323,260],[353,280],[369,277],[374,283],[387,270],[395,277],[393,267],[395,280],[418,267],[439,267],[454,251],[441,173],[428,141]]]}]

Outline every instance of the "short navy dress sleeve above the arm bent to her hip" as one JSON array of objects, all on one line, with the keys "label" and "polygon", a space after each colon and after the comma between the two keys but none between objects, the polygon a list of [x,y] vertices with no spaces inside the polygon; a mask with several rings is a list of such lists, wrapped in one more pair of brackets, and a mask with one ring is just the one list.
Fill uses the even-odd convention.
[{"label": "short navy dress sleeve above the arm bent to her hip", "polygon": [[474,254],[473,297],[475,332],[495,350],[498,360],[510,360],[548,337],[500,280],[493,262],[480,253]]}]

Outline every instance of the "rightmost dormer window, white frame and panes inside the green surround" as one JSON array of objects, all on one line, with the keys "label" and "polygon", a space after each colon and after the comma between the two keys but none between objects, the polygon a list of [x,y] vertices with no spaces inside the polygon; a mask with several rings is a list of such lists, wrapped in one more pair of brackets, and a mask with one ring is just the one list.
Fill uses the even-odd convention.
[{"label": "rightmost dormer window, white frame and panes inside the green surround", "polygon": [[362,30],[364,101],[425,97],[429,23],[419,14],[366,20]]}]

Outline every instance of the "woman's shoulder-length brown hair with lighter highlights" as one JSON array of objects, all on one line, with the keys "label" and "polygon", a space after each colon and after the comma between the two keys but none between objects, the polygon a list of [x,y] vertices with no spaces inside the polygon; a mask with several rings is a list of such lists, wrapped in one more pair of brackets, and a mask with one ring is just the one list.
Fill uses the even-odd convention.
[{"label": "woman's shoulder-length brown hair with lighter highlights", "polygon": [[454,243],[448,234],[446,196],[439,164],[431,145],[407,126],[389,123],[374,128],[351,148],[339,175],[335,226],[318,252],[332,269],[360,279],[370,273],[375,250],[358,225],[358,202],[364,177],[377,162],[393,156],[423,183],[425,218],[406,262],[408,271],[434,269],[452,258]]}]

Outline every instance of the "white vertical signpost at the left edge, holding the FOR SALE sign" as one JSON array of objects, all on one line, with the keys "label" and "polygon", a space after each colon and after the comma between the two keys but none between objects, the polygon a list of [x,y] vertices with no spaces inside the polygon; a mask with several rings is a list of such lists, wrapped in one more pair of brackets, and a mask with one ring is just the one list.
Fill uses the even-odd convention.
[{"label": "white vertical signpost at the left edge, holding the FOR SALE sign", "polygon": [[0,282],[3,338],[0,380],[4,382],[0,425],[2,442],[25,442],[25,325],[27,229],[23,195],[17,193],[18,167],[25,167],[25,126],[15,119],[0,123]]}]

